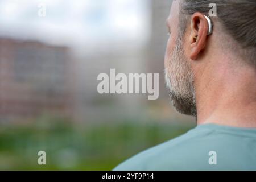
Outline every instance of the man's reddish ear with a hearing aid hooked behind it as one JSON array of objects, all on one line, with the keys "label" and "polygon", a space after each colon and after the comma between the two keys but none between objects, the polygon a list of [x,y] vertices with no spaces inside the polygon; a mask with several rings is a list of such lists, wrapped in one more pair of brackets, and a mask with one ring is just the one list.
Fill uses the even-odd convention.
[{"label": "man's reddish ear with a hearing aid hooked behind it", "polygon": [[199,12],[191,16],[191,35],[190,35],[190,58],[196,60],[200,52],[204,49],[207,43],[208,22],[204,14]]}]

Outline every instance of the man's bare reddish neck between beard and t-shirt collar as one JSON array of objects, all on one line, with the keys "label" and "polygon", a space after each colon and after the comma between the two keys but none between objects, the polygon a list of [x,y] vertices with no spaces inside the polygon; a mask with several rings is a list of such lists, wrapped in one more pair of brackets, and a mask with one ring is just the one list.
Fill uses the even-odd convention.
[{"label": "man's bare reddish neck between beard and t-shirt collar", "polygon": [[198,80],[197,124],[256,127],[255,68],[249,65],[234,68],[230,63],[225,65],[225,61],[218,65],[221,68],[215,69],[214,75],[205,74],[209,76],[203,75]]}]

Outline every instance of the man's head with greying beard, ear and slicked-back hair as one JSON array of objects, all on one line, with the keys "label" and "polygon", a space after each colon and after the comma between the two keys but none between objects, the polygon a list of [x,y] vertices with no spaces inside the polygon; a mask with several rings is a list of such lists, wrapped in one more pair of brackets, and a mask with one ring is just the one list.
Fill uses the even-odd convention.
[{"label": "man's head with greying beard, ear and slicked-back hair", "polygon": [[[210,3],[217,5],[217,17],[211,18],[213,35],[207,35],[204,17]],[[256,69],[255,17],[255,0],[174,0],[167,19],[170,37],[164,66],[177,111],[196,116],[198,85],[202,77],[210,80],[217,69],[245,64]],[[218,63],[220,56],[227,61]]]}]

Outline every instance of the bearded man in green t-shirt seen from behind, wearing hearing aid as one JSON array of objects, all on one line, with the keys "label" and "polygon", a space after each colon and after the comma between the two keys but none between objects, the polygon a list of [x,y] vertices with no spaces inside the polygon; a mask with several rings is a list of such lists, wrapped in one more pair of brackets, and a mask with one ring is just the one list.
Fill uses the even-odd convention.
[{"label": "bearded man in green t-shirt seen from behind, wearing hearing aid", "polygon": [[255,0],[173,1],[166,82],[197,127],[115,170],[256,170],[255,18]]}]

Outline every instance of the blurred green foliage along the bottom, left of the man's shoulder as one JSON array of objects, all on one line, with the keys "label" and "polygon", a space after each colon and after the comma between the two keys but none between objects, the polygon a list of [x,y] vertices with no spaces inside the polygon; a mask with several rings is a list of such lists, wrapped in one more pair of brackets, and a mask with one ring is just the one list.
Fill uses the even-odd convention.
[{"label": "blurred green foliage along the bottom, left of the man's shoulder", "polygon": [[[1,125],[0,169],[111,170],[191,127],[156,121],[75,123],[46,116],[32,123]],[[47,165],[38,164],[41,150],[46,151]]]}]

